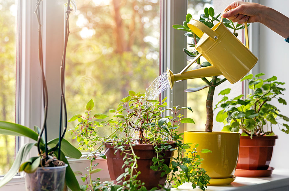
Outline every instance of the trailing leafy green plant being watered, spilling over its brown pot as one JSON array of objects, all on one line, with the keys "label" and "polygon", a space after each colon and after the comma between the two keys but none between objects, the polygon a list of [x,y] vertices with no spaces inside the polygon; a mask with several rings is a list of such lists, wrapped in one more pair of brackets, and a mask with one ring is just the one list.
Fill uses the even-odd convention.
[{"label": "trailing leafy green plant being watered, spilling over its brown pot", "polygon": [[[146,185],[138,179],[139,158],[134,152],[134,146],[139,144],[150,144],[155,149],[155,157],[152,158],[153,165],[150,168],[153,171],[161,172],[161,177],[166,177],[168,186],[155,187],[151,190],[162,189],[170,190],[171,186],[177,188],[185,182],[192,183],[192,188],[197,186],[202,190],[207,188],[210,177],[199,165],[202,162],[199,152],[211,152],[203,149],[197,151],[198,144],[182,143],[184,133],[179,133],[180,123],[194,123],[193,119],[185,118],[180,114],[180,110],[189,109],[189,107],[172,107],[164,109],[167,106],[166,98],[162,101],[147,100],[145,95],[129,91],[129,96],[123,98],[116,109],[110,109],[113,115],[111,119],[103,120],[108,117],[106,114],[93,112],[94,102],[90,100],[86,105],[84,115],[74,115],[69,121],[78,120],[78,124],[71,130],[73,139],[79,142],[80,150],[88,150],[90,154],[90,166],[88,173],[80,174],[81,179],[86,182],[81,186],[81,190],[147,190]],[[164,116],[165,111],[169,111],[172,116]],[[110,133],[107,136],[99,135],[99,131],[108,128]],[[173,143],[173,146],[170,144]],[[97,165],[92,165],[96,157],[106,159],[102,153],[106,145],[112,145],[115,152],[123,153],[125,173],[120,175],[116,182],[101,182],[100,179],[92,179],[91,175],[100,171]],[[169,165],[165,164],[163,156],[164,151],[175,151],[173,160]]]}]

